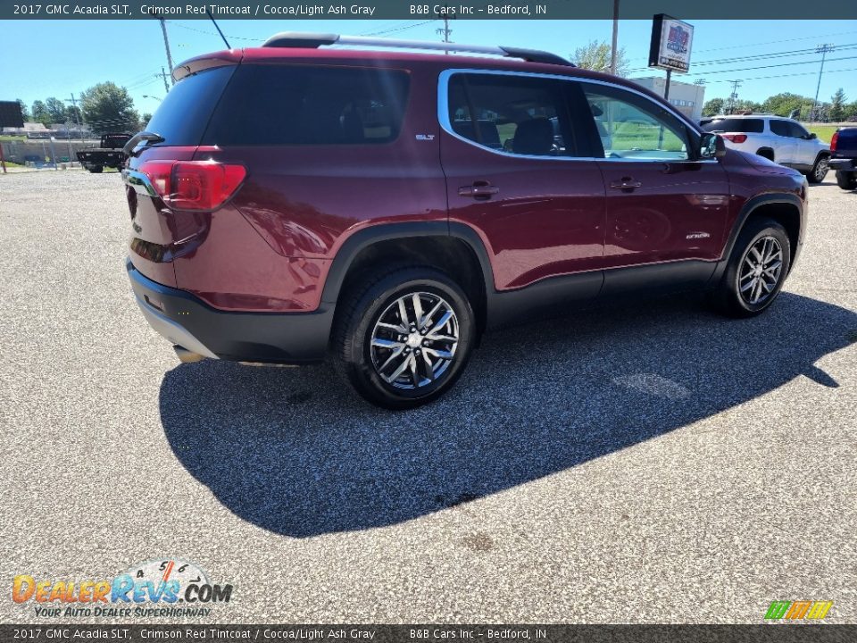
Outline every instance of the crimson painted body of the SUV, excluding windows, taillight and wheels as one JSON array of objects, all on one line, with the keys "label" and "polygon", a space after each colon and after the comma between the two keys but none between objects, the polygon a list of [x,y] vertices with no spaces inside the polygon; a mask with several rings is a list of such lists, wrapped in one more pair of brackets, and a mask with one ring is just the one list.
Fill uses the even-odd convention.
[{"label": "crimson painted body of the SUV, excluding windows, taillight and wheels", "polygon": [[[758,208],[788,230],[792,264],[803,242],[803,178],[761,158],[521,158],[473,145],[439,118],[450,70],[549,76],[645,96],[698,145],[694,122],[627,79],[509,59],[265,47],[182,63],[176,89],[241,65],[401,71],[407,102],[399,135],[381,145],[174,145],[168,137],[137,147],[124,172],[132,284],[155,328],[205,356],[323,359],[343,284],[377,244],[416,255],[426,244],[445,248],[445,269],[458,266],[478,292],[487,328],[556,303],[703,288]],[[213,211],[180,211],[146,174],[146,163],[164,160],[240,165],[245,178]],[[455,252],[462,256],[446,256]]]}]

